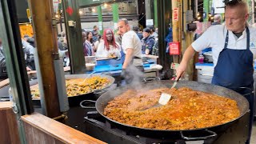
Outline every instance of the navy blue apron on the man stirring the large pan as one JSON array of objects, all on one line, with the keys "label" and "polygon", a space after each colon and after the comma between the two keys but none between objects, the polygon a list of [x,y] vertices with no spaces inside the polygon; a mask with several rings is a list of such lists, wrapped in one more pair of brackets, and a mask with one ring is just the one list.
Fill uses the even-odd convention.
[{"label": "navy blue apron on the man stirring the large pan", "polygon": [[[254,55],[250,51],[250,31],[246,27],[246,50],[228,49],[229,31],[226,33],[224,49],[214,67],[212,84],[223,86],[242,94],[250,104],[250,132],[254,120]],[[247,143],[247,142],[246,142]]]}]

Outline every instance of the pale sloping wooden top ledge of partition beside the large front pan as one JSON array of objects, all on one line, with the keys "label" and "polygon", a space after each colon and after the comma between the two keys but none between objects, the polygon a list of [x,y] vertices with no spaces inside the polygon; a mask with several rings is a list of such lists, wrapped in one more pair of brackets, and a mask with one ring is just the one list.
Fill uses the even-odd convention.
[{"label": "pale sloping wooden top ledge of partition beside the large front pan", "polygon": [[23,115],[22,121],[65,143],[105,143],[42,114]]}]

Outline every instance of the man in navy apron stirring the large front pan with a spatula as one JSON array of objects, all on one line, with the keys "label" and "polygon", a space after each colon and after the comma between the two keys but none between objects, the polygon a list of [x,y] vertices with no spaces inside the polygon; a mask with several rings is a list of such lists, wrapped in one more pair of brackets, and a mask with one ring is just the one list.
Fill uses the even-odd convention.
[{"label": "man in navy apron stirring the large front pan with a spatula", "polygon": [[226,3],[225,25],[210,26],[185,51],[176,70],[177,78],[184,74],[195,52],[212,47],[214,77],[212,84],[224,86],[242,94],[250,103],[250,143],[254,120],[254,59],[256,56],[256,29],[246,23],[248,6],[241,0]]}]

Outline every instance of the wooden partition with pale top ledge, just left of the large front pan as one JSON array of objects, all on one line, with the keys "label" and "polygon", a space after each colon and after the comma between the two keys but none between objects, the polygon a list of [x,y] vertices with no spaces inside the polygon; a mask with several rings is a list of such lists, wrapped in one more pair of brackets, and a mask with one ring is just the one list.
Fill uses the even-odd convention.
[{"label": "wooden partition with pale top ledge, just left of the large front pan", "polygon": [[27,143],[105,143],[42,114],[22,116]]}]

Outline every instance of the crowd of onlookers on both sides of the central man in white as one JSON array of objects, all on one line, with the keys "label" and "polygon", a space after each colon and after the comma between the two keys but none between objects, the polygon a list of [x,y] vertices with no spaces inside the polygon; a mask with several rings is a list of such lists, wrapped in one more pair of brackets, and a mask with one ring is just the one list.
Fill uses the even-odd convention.
[{"label": "crowd of onlookers on both sides of the central man in white", "polygon": [[[137,34],[142,44],[142,54],[158,54],[158,31],[154,26],[140,30],[133,26],[132,30]],[[103,35],[98,33],[98,26],[94,30],[82,30],[83,52],[85,56],[96,56],[96,58],[121,57],[122,34],[114,30],[106,29]]]}]

